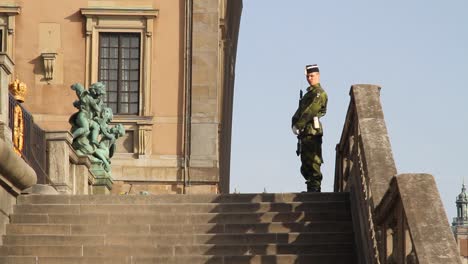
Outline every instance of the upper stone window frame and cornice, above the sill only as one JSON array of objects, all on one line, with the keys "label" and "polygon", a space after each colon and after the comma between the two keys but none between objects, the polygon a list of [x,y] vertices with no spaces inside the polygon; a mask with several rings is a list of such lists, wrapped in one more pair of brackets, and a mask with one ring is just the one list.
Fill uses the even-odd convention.
[{"label": "upper stone window frame and cornice, above the sill only", "polygon": [[100,32],[140,33],[140,116],[151,115],[151,58],[157,9],[81,8],[86,17],[85,83],[98,81]]}]

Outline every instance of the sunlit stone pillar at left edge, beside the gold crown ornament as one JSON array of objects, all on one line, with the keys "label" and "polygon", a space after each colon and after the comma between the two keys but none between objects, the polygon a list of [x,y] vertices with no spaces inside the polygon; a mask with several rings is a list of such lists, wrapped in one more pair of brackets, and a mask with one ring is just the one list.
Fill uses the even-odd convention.
[{"label": "sunlit stone pillar at left edge, beside the gold crown ornament", "polygon": [[0,138],[12,144],[11,129],[8,126],[8,84],[14,63],[6,53],[0,53]]}]

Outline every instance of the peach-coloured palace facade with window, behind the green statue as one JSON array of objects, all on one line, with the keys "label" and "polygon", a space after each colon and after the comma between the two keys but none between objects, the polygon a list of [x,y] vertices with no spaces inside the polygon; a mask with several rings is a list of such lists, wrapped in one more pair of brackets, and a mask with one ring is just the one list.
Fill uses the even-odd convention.
[{"label": "peach-coloured palace facade with window, behind the green statue", "polygon": [[229,192],[241,0],[0,5],[8,82],[27,85],[23,106],[42,129],[70,131],[72,84],[106,85],[113,122],[126,129],[111,193]]}]

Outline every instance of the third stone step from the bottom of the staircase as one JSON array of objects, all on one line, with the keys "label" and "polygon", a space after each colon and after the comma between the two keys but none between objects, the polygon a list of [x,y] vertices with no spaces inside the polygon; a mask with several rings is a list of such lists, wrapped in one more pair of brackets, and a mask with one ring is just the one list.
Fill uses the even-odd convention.
[{"label": "third stone step from the bottom of the staircase", "polygon": [[353,233],[269,233],[269,234],[177,234],[177,235],[8,235],[8,246],[69,245],[258,245],[258,244],[331,244],[352,241]]}]

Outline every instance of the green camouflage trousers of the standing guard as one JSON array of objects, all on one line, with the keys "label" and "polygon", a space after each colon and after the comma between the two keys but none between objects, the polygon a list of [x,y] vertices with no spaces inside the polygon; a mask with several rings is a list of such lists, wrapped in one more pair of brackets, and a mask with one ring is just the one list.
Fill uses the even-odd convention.
[{"label": "green camouflage trousers of the standing guard", "polygon": [[322,172],[322,136],[305,136],[302,138],[301,174],[307,184],[307,191],[320,191]]}]

